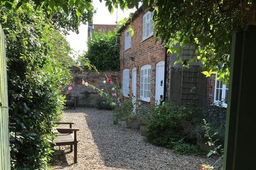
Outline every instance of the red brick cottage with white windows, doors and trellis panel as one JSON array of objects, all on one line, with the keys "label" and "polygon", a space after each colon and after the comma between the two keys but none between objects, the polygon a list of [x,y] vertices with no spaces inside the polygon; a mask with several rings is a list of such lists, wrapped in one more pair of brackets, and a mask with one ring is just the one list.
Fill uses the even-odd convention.
[{"label": "red brick cottage with white windows, doors and trellis panel", "polygon": [[189,60],[197,55],[191,46],[184,47],[179,57],[166,53],[162,40],[156,41],[153,14],[139,8],[118,31],[123,95],[145,104],[159,104],[161,100],[200,106],[222,102],[226,107],[228,86],[216,81],[215,75],[205,78],[200,61],[191,63],[189,68],[174,64],[179,57]]}]

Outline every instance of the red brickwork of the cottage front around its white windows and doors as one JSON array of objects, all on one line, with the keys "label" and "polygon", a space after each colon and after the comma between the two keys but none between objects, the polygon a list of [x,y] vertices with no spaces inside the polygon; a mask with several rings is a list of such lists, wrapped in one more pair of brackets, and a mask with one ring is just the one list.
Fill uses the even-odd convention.
[{"label": "red brickwork of the cottage front around its white windows and doors", "polygon": [[[155,66],[158,62],[165,60],[165,45],[161,40],[155,42],[155,35],[143,41],[143,15],[140,12],[120,32],[120,80],[122,81],[123,70],[130,70],[130,92],[131,92],[131,69],[137,68],[137,99],[140,98],[140,68],[146,64],[151,65],[151,103],[155,102]],[[125,31],[133,26],[134,35],[131,37],[131,48],[125,50]],[[132,60],[133,58],[133,60]]]}]

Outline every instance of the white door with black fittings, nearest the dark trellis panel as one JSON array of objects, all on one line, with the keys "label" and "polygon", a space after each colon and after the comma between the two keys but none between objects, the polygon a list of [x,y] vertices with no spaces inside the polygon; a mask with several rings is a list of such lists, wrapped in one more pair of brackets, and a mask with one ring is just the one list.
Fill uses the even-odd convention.
[{"label": "white door with black fittings, nearest the dark trellis panel", "polygon": [[158,62],[155,74],[155,104],[163,100],[163,84],[165,77],[165,62]]}]

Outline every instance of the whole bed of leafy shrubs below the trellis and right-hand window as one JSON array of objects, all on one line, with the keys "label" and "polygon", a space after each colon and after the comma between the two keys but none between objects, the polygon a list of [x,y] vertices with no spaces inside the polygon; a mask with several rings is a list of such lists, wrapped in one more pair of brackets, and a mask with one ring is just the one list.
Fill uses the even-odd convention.
[{"label": "whole bed of leafy shrubs below the trellis and right-hand window", "polygon": [[[212,123],[211,128],[209,124],[205,124],[206,121],[203,124],[203,118],[209,119]],[[163,105],[151,108],[150,120],[147,124],[147,139],[158,146],[173,149],[176,153],[197,155],[205,154],[195,146],[197,136],[205,134],[205,139],[210,140],[208,142],[210,146],[218,145],[211,151],[212,154],[221,151],[224,139],[223,128],[225,129],[223,108],[199,108],[192,104],[165,102]]]}]

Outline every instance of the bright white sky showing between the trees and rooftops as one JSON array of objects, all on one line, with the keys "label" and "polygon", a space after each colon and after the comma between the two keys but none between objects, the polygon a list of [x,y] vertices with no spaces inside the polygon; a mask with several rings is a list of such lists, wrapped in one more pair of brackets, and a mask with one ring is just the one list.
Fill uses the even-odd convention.
[{"label": "bright white sky showing between the trees and rooftops", "polygon": [[[116,10],[111,13],[108,11],[108,8],[105,7],[105,2],[99,2],[99,0],[93,0],[94,9],[97,12],[93,16],[94,24],[116,24]],[[134,12],[135,9],[129,9],[122,11],[118,9],[118,21],[123,20],[125,17],[128,17],[131,12]],[[79,34],[75,32],[69,32],[69,35],[66,36],[67,41],[70,44],[70,47],[75,50],[77,53],[82,54],[83,50],[87,50],[87,30],[88,26],[81,24],[79,27]]]}]

